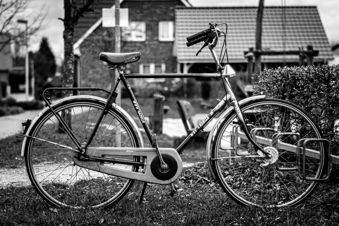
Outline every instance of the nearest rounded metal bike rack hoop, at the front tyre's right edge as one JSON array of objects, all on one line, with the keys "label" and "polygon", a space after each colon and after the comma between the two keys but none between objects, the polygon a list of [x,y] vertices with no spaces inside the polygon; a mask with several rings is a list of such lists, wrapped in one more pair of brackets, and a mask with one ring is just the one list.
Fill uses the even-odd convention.
[{"label": "nearest rounded metal bike rack hoop, at the front tyre's right edge", "polygon": [[[325,168],[325,175],[321,178],[312,178],[312,177],[308,177],[305,174],[305,157],[306,157],[306,144],[310,141],[315,141],[315,142],[323,142],[325,145],[324,148],[324,156],[322,156],[320,154],[320,161],[322,160],[322,158],[324,158],[324,166],[326,166]],[[302,149],[300,147],[301,142],[303,142],[302,144]],[[315,139],[315,138],[303,138],[300,139],[298,142],[298,176],[305,181],[326,181],[328,178],[330,178],[330,158],[331,158],[331,144],[330,141],[328,141],[327,139]],[[302,153],[299,152],[299,150],[302,150]],[[302,155],[302,167],[301,167],[301,155]],[[300,170],[301,169],[301,170]],[[302,172],[302,173],[301,173]]]}]

